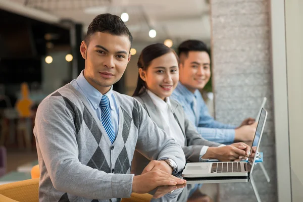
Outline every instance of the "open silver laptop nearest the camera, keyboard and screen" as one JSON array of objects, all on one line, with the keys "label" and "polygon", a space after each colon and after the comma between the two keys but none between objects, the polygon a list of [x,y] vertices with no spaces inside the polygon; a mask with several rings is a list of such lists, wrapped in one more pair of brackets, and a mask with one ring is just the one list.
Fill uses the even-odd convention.
[{"label": "open silver laptop nearest the camera, keyboard and screen", "polygon": [[[256,135],[259,136],[257,144],[257,151],[259,150],[265,122],[267,118],[267,111],[262,108],[258,126],[256,129]],[[255,139],[254,137],[254,139]],[[250,150],[252,154],[252,148]],[[198,177],[238,177],[238,176],[249,176],[254,168],[257,155],[254,158],[248,158],[247,162],[198,162],[198,163],[187,163],[183,172],[182,177],[184,178],[198,178]]]}]

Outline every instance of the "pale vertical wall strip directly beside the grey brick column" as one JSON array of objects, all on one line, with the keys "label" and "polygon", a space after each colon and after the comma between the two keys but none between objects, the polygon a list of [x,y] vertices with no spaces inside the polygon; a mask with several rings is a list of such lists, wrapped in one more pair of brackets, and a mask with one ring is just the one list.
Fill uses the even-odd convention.
[{"label": "pale vertical wall strip directly beside the grey brick column", "polygon": [[270,1],[278,201],[291,201],[284,0]]}]

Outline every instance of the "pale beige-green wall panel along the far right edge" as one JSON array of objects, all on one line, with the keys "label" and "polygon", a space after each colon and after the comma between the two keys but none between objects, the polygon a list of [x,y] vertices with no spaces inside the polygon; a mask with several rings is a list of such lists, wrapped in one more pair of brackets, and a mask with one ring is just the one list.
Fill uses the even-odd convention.
[{"label": "pale beige-green wall panel along the far right edge", "polygon": [[303,201],[303,1],[285,0],[292,201]]}]

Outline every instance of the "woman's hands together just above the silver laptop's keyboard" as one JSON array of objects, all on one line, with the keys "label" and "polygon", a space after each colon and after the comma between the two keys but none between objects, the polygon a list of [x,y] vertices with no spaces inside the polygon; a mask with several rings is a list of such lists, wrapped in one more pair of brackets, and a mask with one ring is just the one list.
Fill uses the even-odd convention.
[{"label": "woman's hands together just above the silver laptop's keyboard", "polygon": [[221,147],[209,147],[205,155],[207,157],[209,155],[211,158],[206,157],[206,159],[218,159],[219,161],[234,161],[239,158],[243,159],[244,157],[248,157],[245,150],[247,146],[247,144],[239,143],[234,146],[227,145]]}]

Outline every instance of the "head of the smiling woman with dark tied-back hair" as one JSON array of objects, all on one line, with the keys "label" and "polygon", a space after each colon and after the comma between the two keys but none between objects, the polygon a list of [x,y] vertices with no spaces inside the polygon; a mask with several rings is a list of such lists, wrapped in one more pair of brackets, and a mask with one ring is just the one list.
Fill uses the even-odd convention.
[{"label": "head of the smiling woman with dark tied-back hair", "polygon": [[138,83],[133,96],[149,89],[160,98],[171,95],[179,80],[179,58],[162,43],[145,47],[138,60]]}]

